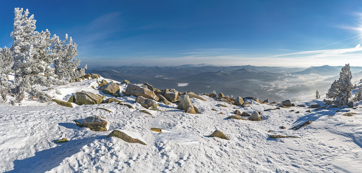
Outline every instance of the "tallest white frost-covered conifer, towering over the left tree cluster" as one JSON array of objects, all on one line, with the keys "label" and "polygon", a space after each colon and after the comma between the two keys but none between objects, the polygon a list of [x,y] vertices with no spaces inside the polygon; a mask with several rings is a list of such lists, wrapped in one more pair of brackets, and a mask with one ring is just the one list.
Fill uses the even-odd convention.
[{"label": "tallest white frost-covered conifer, towering over the left tree cluster", "polygon": [[11,47],[13,52],[13,70],[15,76],[15,93],[28,92],[34,84],[49,86],[50,84],[64,84],[54,79],[53,69],[50,67],[54,59],[51,54],[50,32],[35,31],[34,15],[30,17],[28,9],[14,9],[14,30],[10,36],[14,39]]}]

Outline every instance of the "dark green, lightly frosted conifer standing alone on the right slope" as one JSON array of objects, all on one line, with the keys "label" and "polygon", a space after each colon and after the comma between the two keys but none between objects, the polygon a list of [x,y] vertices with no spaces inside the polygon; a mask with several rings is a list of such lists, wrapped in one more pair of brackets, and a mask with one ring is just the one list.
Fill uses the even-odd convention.
[{"label": "dark green, lightly frosted conifer standing alone on the right slope", "polygon": [[350,68],[349,64],[342,67],[340,78],[333,82],[326,94],[328,98],[336,99],[334,101],[334,104],[336,105],[346,105],[349,98],[352,96],[352,89],[354,86],[351,83],[352,72]]}]

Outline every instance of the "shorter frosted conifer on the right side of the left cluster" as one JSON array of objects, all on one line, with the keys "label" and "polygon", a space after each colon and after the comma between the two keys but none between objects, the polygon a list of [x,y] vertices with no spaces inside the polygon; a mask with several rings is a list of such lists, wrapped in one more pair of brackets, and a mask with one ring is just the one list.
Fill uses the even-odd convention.
[{"label": "shorter frosted conifer on the right side of the left cluster", "polygon": [[[64,43],[68,43],[64,45]],[[73,43],[72,37],[68,40],[68,34],[64,41],[61,41],[58,36],[54,35],[52,41],[52,51],[55,55],[53,60],[54,73],[61,80],[70,80],[84,75],[84,68],[77,68],[80,64],[80,59],[74,59],[78,55],[77,45]]]}]

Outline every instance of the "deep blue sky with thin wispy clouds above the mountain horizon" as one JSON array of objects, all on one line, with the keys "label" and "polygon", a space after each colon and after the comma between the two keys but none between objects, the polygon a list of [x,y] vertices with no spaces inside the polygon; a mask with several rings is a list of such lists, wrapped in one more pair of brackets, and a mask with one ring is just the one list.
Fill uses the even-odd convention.
[{"label": "deep blue sky with thin wispy clouds above the mountain horizon", "polygon": [[0,46],[14,8],[37,30],[78,45],[88,66],[362,66],[362,1],[12,1],[0,5]]}]

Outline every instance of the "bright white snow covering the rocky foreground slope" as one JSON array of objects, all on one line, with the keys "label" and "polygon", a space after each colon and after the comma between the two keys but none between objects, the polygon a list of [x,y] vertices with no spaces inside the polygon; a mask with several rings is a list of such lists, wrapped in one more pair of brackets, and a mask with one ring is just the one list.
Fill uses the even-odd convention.
[{"label": "bright white snow covering the rocky foreground slope", "polygon": [[[96,80],[52,86],[54,89],[47,92],[64,101],[81,90],[103,94],[91,86],[98,86]],[[125,88],[122,84],[121,89]],[[55,94],[55,90],[61,94]],[[159,103],[157,109],[166,112],[148,110],[155,118],[139,111],[146,109],[134,104],[135,97],[117,98],[135,109],[114,102],[73,104],[74,108],[55,102],[1,104],[0,172],[362,172],[361,108],[320,109],[312,113],[306,112],[312,110],[306,107],[263,111],[275,106],[253,104],[243,108],[201,97],[207,101],[191,98],[200,114],[184,113],[176,109],[176,104]],[[321,100],[323,97],[295,105],[317,103],[323,106]],[[113,113],[96,109],[98,107]],[[261,111],[263,120],[227,119],[236,110],[234,107],[249,114]],[[292,109],[300,113],[290,111]],[[336,110],[343,113],[336,113]],[[346,111],[358,114],[343,116]],[[92,115],[105,117],[109,130],[90,131],[73,122],[75,119],[82,122]],[[309,120],[313,123],[298,130],[290,129]],[[281,126],[287,129],[279,128]],[[157,133],[151,131],[151,127],[164,130]],[[115,129],[147,145],[105,138]],[[208,137],[217,129],[230,140]],[[273,132],[268,133],[269,130]],[[300,138],[270,139],[271,134]],[[54,143],[62,138],[70,141]]]}]

